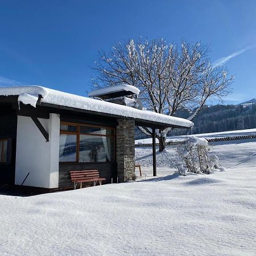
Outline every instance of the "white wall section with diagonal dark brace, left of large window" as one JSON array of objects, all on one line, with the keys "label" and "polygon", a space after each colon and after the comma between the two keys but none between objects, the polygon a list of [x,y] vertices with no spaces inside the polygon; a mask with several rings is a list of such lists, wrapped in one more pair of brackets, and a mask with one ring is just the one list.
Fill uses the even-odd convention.
[{"label": "white wall section with diagonal dark brace, left of large window", "polygon": [[30,117],[18,115],[16,141],[15,184],[42,188],[59,187],[60,118],[50,114],[49,119],[39,118],[49,133],[49,142]]}]

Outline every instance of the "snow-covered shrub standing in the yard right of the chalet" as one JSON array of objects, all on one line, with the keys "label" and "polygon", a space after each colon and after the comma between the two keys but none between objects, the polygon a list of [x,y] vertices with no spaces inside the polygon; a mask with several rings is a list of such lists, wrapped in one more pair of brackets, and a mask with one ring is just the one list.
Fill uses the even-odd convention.
[{"label": "snow-covered shrub standing in the yard right of the chalet", "polygon": [[187,171],[195,174],[210,174],[214,169],[219,168],[218,157],[208,155],[210,146],[206,139],[189,137],[177,151],[182,160],[181,166],[177,168],[181,175],[185,175]]}]

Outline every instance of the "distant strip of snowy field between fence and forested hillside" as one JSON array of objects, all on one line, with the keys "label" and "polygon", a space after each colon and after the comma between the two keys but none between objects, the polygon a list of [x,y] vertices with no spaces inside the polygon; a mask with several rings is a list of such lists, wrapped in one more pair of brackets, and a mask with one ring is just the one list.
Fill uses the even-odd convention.
[{"label": "distant strip of snowy field between fence and forested hillside", "polygon": [[[191,131],[189,131],[191,133]],[[193,136],[193,137],[201,137],[201,138],[225,138],[225,137],[234,137],[234,136],[241,136],[241,135],[256,135],[256,128],[254,129],[246,129],[246,130],[236,130],[236,131],[221,131],[218,133],[201,133],[201,134],[193,134],[193,135],[188,135],[188,136]],[[187,135],[181,135],[181,136],[172,136],[172,137],[167,137],[166,141],[180,141],[184,140],[184,138],[187,137]],[[158,142],[158,139],[156,139],[156,142]],[[135,141],[135,144],[142,143],[152,143],[152,138],[147,138],[147,139],[137,139]]]}]

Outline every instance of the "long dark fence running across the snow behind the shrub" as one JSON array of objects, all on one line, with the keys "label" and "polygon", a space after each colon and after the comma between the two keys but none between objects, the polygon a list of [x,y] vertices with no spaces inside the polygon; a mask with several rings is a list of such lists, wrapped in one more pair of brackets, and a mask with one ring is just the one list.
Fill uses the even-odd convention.
[{"label": "long dark fence running across the snow behind the shrub", "polygon": [[[208,142],[218,142],[218,141],[236,141],[237,139],[255,139],[256,135],[238,135],[238,136],[229,136],[221,138],[205,138]],[[168,141],[166,146],[175,146],[179,144],[185,144],[185,141]],[[152,143],[145,144],[135,144],[135,147],[152,147]],[[156,143],[156,146],[159,146],[159,143]]]}]

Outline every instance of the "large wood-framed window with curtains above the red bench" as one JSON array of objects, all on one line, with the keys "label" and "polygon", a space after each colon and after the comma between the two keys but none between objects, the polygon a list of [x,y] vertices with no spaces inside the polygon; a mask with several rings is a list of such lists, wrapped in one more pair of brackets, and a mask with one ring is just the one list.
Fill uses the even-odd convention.
[{"label": "large wood-framed window with curtains above the red bench", "polygon": [[61,122],[60,162],[113,162],[114,133],[114,128]]}]

